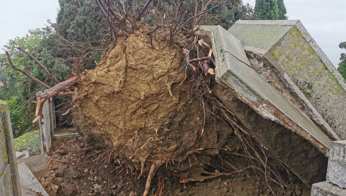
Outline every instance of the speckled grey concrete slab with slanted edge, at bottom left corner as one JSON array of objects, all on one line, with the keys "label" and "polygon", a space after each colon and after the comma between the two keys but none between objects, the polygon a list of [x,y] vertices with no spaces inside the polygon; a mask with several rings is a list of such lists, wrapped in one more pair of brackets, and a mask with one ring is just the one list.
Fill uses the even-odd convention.
[{"label": "speckled grey concrete slab with slanted edge, at bottom left corner", "polygon": [[30,169],[21,163],[18,165],[20,184],[23,189],[32,190],[34,192],[40,192],[42,196],[49,196],[46,190],[42,187],[39,181],[35,178]]}]

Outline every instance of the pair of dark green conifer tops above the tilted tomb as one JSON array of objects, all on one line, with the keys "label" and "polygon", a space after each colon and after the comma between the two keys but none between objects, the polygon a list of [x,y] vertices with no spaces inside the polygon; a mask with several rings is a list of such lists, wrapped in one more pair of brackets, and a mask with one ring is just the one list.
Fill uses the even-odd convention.
[{"label": "pair of dark green conifer tops above the tilted tomb", "polygon": [[256,0],[255,12],[261,20],[286,20],[283,0]]}]

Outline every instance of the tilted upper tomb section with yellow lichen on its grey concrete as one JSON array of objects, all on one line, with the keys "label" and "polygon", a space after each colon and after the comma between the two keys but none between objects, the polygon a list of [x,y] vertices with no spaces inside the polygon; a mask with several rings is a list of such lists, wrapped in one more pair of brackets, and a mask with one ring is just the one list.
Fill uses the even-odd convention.
[{"label": "tilted upper tomb section with yellow lichen on its grey concrete", "polygon": [[257,73],[330,139],[346,139],[345,80],[299,20],[237,21],[228,31],[254,59],[250,66]]}]

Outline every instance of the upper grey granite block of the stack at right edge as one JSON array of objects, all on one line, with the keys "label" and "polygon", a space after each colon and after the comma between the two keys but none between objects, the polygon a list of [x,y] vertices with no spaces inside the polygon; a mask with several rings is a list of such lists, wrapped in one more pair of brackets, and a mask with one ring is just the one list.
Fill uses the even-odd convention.
[{"label": "upper grey granite block of the stack at right edge", "polygon": [[346,188],[346,140],[332,142],[326,180]]}]

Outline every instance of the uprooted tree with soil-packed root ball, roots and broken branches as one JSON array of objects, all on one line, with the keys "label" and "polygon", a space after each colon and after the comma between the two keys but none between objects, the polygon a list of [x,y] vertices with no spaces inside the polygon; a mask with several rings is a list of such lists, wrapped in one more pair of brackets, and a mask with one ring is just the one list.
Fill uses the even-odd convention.
[{"label": "uprooted tree with soil-packed root ball, roots and broken branches", "polygon": [[[268,188],[272,182],[288,188],[277,168],[285,167],[213,95],[212,48],[192,36],[208,13],[228,0],[199,1],[185,20],[179,20],[187,13],[177,1],[172,17],[154,28],[139,22],[157,10],[159,5],[152,0],[132,14],[131,3],[127,8],[122,4],[124,16],[110,1],[95,1],[109,22],[115,43],[95,69],[80,73],[76,68],[72,77],[60,82],[33,55],[18,47],[56,82],[50,87],[13,65],[6,52],[14,69],[48,88],[36,102],[33,122],[42,118],[42,106],[50,97],[73,95],[69,111],[75,127],[104,143],[114,156],[124,157],[122,162],[136,177],[148,173],[144,195],[156,170],[187,183],[252,168],[265,178]],[[221,164],[224,171],[219,172],[215,165],[226,162],[222,157],[215,161],[221,150],[246,158],[249,165],[238,168],[227,161],[227,166]],[[288,169],[286,173],[290,175]]]}]

